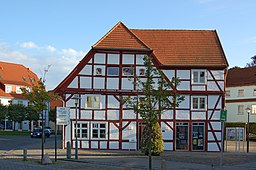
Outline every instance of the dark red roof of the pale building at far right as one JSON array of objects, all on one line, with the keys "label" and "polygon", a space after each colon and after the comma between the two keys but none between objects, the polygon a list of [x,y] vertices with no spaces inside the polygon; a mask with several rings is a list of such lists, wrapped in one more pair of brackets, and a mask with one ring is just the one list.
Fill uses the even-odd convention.
[{"label": "dark red roof of the pale building at far right", "polygon": [[256,85],[256,66],[231,68],[227,74],[227,87]]}]

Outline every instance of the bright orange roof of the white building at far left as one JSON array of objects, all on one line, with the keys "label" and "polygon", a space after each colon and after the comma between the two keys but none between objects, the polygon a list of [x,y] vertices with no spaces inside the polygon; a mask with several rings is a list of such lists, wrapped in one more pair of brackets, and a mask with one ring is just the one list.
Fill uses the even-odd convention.
[{"label": "bright orange roof of the white building at far left", "polygon": [[[34,82],[31,81],[34,79]],[[37,75],[21,64],[0,62],[0,83],[31,86],[39,81]]]}]

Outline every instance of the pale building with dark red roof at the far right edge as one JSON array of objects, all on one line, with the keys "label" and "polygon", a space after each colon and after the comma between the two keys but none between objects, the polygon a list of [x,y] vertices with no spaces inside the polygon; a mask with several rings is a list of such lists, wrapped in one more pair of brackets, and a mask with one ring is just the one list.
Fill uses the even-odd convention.
[{"label": "pale building with dark red roof at the far right edge", "polygon": [[256,67],[231,68],[227,74],[226,109],[227,122],[256,121]]}]

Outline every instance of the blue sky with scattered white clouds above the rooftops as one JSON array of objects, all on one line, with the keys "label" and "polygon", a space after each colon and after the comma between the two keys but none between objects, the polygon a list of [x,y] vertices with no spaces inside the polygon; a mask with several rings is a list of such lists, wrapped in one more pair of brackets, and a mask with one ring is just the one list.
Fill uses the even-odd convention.
[{"label": "blue sky with scattered white clouds above the rooftops", "polygon": [[256,55],[255,0],[0,1],[0,61],[23,64],[54,89],[102,36],[128,28],[217,30],[229,68]]}]

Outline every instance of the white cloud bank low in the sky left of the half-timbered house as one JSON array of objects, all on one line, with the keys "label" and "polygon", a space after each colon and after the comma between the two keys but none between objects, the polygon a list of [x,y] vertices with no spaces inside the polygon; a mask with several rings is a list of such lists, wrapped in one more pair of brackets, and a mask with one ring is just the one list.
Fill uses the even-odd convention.
[{"label": "white cloud bank low in the sky left of the half-timbered house", "polygon": [[[19,44],[20,45],[20,44]],[[39,46],[38,46],[39,47]],[[39,78],[43,76],[45,68],[51,65],[46,74],[46,88],[52,90],[64,80],[64,78],[75,68],[82,59],[84,52],[72,48],[58,50],[53,46],[45,46],[52,53],[38,53],[38,50],[22,51],[8,46],[5,42],[0,42],[1,61],[22,64],[31,68]]]}]

